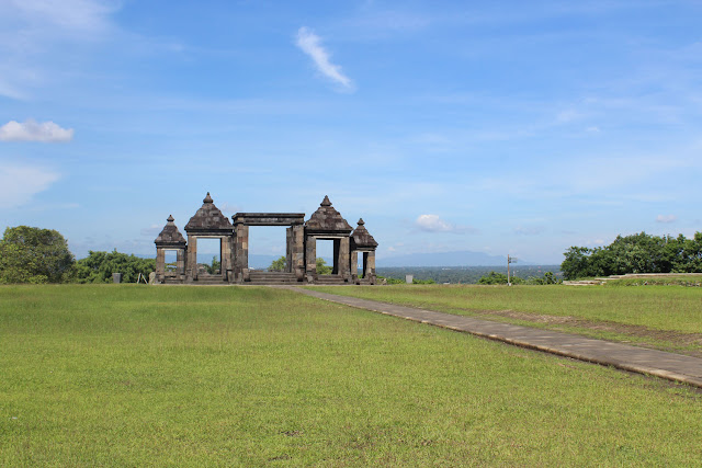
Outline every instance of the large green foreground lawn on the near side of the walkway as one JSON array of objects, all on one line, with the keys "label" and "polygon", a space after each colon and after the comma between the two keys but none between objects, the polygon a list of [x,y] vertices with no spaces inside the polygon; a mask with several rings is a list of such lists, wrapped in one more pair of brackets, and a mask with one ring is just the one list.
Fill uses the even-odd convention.
[{"label": "large green foreground lawn on the near side of the walkway", "polygon": [[701,421],[684,386],[292,292],[0,287],[3,467],[693,466]]}]

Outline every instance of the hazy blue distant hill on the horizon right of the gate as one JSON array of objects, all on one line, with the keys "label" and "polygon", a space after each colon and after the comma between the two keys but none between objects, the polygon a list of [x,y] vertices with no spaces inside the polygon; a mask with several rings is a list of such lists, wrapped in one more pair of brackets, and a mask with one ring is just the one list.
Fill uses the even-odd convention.
[{"label": "hazy blue distant hill on the horizon right of the gate", "polygon": [[[519,262],[531,265],[530,262]],[[389,266],[503,266],[507,256],[490,255],[484,252],[463,250],[457,252],[409,253],[406,255],[377,259],[378,267]]]}]

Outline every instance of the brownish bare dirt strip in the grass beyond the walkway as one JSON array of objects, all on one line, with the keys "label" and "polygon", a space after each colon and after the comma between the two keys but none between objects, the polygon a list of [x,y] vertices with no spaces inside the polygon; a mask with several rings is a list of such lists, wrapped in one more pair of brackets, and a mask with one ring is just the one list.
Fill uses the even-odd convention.
[{"label": "brownish bare dirt strip in the grass beyond the walkway", "polygon": [[[505,317],[508,319],[523,320],[531,323],[543,323],[547,326],[565,326],[574,327],[585,330],[604,331],[637,339],[637,344],[643,346],[654,347],[656,350],[671,351],[676,353],[683,353],[694,357],[702,357],[702,351],[684,350],[681,351],[678,347],[665,346],[661,342],[678,343],[682,346],[702,346],[702,333],[683,333],[671,330],[655,330],[648,327],[615,323],[607,321],[592,321],[578,319],[575,317],[558,317],[548,316],[544,313],[525,313],[517,310],[482,310],[477,312],[485,318],[489,317]],[[570,331],[570,330],[569,330]],[[647,342],[646,340],[652,340]]]}]

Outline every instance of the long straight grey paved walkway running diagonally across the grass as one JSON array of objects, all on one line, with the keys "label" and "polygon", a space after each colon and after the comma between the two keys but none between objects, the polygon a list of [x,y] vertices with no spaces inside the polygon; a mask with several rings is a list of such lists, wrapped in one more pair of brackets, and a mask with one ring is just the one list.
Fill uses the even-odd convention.
[{"label": "long straight grey paved walkway running diagonally across the grass", "polygon": [[452,313],[378,303],[376,300],[337,296],[295,286],[283,287],[332,303],[467,332],[532,350],[573,357],[575,359],[613,366],[620,369],[653,375],[673,381],[681,381],[702,388],[702,358],[698,357],[647,350],[551,330],[492,322]]}]

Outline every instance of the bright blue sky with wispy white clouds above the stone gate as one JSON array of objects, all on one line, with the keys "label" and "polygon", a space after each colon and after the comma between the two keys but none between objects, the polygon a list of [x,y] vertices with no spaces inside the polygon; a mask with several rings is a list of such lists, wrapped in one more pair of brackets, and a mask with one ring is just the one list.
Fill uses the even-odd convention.
[{"label": "bright blue sky with wispy white clouds above the stone gate", "polygon": [[226,216],[328,195],[378,266],[690,237],[700,24],[697,0],[0,0],[0,229],[155,254],[210,192]]}]

